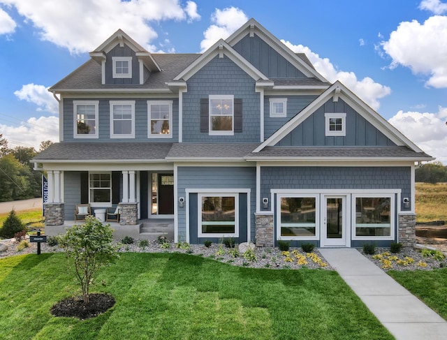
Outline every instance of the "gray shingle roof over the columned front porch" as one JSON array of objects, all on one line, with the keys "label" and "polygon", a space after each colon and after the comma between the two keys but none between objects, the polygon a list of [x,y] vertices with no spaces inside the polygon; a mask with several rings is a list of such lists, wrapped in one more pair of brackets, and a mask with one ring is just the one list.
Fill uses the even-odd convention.
[{"label": "gray shingle roof over the columned front porch", "polygon": [[34,161],[151,161],[164,159],[172,143],[152,142],[63,142],[54,143]]}]

